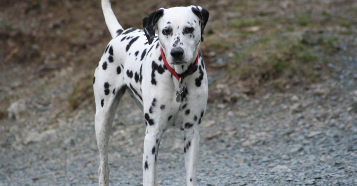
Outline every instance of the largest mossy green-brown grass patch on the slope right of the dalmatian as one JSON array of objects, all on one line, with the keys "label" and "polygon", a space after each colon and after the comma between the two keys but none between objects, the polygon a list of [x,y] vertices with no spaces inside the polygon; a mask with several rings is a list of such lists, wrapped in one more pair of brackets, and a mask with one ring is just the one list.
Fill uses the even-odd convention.
[{"label": "largest mossy green-brown grass patch on the slope right of the dalmatian", "polygon": [[[336,50],[336,38],[322,38],[316,45],[309,45],[297,36],[268,37],[235,53],[236,68],[228,69],[231,77],[237,76],[251,88],[272,80],[273,87],[299,77],[303,82],[317,81],[328,55]],[[278,81],[278,79],[283,81]]]}]

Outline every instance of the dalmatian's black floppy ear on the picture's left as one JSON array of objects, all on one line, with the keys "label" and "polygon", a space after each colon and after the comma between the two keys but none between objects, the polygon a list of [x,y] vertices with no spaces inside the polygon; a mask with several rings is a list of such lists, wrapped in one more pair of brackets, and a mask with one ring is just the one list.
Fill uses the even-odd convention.
[{"label": "dalmatian's black floppy ear on the picture's left", "polygon": [[149,41],[149,45],[154,40],[156,22],[162,15],[164,15],[164,9],[159,9],[142,19],[142,27],[147,37],[147,41]]}]

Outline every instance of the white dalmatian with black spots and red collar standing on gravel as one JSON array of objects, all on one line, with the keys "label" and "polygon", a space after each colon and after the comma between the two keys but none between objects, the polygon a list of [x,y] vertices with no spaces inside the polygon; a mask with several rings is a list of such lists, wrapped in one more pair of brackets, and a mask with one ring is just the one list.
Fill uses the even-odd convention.
[{"label": "white dalmatian with black spots and red collar standing on gravel", "polygon": [[144,30],[124,30],[110,0],[102,0],[102,9],[113,39],[93,79],[99,185],[109,185],[109,135],[116,108],[126,90],[142,110],[146,125],[143,185],[158,185],[157,153],[162,134],[169,127],[184,131],[186,184],[196,185],[198,132],[208,94],[199,46],[208,11],[193,5],[160,8],[142,20]]}]

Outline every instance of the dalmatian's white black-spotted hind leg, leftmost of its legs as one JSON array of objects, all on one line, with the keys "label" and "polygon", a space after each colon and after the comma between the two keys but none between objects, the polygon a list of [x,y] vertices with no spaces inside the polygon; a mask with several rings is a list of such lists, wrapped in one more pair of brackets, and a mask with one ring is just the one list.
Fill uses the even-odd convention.
[{"label": "dalmatian's white black-spotted hind leg, leftmost of its legs", "polygon": [[[111,43],[110,43],[111,44]],[[113,48],[108,45],[94,73],[93,89],[96,105],[95,134],[99,149],[99,185],[109,184],[108,141],[116,108],[126,90],[121,61],[113,60]]]}]

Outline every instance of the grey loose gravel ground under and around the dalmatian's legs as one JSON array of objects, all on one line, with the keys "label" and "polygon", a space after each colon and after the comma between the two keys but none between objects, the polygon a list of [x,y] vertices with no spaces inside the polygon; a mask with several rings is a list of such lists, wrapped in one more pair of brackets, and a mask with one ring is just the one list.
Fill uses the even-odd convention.
[{"label": "grey loose gravel ground under and around the dalmatian's legs", "polygon": [[[208,104],[198,184],[357,185],[357,58],[340,57],[325,82]],[[54,115],[52,104],[31,108],[50,93],[56,91],[26,100],[36,117],[1,120],[0,185],[97,184],[92,104],[69,118]],[[126,95],[110,139],[111,185],[141,185],[144,133],[142,114]],[[185,185],[182,131],[169,129],[160,147],[159,182]]]}]

